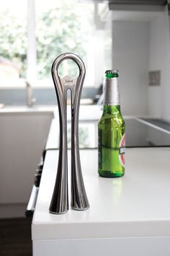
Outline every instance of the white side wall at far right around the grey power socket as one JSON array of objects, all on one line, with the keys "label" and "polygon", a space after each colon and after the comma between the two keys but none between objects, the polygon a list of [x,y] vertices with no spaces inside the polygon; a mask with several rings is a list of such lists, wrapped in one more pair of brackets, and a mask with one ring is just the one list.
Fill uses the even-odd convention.
[{"label": "white side wall at far right around the grey power socket", "polygon": [[170,121],[170,44],[168,13],[158,14],[150,23],[149,71],[161,70],[161,86],[148,87],[148,114]]}]

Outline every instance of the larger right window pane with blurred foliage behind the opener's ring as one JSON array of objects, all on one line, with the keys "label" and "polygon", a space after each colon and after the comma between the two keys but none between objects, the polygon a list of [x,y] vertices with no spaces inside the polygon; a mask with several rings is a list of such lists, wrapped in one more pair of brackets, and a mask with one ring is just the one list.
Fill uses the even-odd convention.
[{"label": "larger right window pane with blurred foliage behind the opener's ring", "polygon": [[[53,60],[63,52],[76,53],[87,63],[94,5],[75,0],[35,0],[35,6],[38,79],[49,78]],[[61,67],[61,76],[68,71],[76,75],[72,63]]]}]

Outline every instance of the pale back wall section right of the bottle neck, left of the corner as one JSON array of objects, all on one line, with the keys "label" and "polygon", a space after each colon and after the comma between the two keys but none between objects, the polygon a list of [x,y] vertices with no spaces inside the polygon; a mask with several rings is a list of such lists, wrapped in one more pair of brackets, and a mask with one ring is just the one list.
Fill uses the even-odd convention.
[{"label": "pale back wall section right of the bottle neck, left of the corner", "polygon": [[113,22],[113,68],[120,71],[124,115],[148,114],[149,23]]}]

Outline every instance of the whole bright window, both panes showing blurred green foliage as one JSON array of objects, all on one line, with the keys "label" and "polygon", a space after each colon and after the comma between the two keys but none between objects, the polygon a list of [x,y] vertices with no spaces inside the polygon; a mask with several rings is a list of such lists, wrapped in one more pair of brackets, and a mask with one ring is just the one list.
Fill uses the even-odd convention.
[{"label": "whole bright window, both panes showing blurred green foliage", "polygon": [[[87,66],[93,47],[90,42],[94,4],[91,2],[7,0],[0,14],[1,77],[46,81],[50,79],[53,60],[63,52],[78,54]],[[75,75],[75,67],[70,63],[61,67],[61,75],[69,68]],[[94,84],[90,76],[89,84]]]}]

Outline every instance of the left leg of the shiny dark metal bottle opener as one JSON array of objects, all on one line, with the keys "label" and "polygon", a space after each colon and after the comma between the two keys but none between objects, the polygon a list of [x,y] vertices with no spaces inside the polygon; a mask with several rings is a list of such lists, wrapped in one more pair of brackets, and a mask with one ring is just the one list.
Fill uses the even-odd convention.
[{"label": "left leg of the shiny dark metal bottle opener", "polygon": [[55,59],[52,66],[53,82],[58,98],[58,112],[60,121],[60,148],[58,156],[58,172],[53,190],[53,197],[50,203],[50,213],[66,213],[68,211],[68,156],[67,156],[67,99],[66,89],[61,84],[60,78],[56,74]]}]

